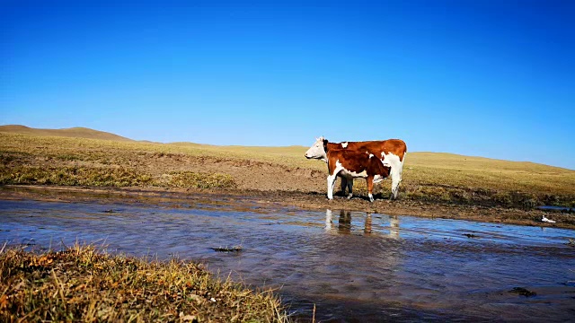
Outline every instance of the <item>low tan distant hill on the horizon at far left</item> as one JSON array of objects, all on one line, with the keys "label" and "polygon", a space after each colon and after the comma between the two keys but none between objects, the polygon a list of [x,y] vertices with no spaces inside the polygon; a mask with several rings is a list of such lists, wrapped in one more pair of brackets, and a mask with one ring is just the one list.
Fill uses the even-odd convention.
[{"label": "low tan distant hill on the horizon at far left", "polygon": [[75,138],[115,140],[123,142],[133,141],[132,139],[123,137],[121,135],[114,135],[108,132],[93,130],[85,127],[71,127],[64,129],[39,129],[21,125],[6,125],[6,126],[0,126],[0,132],[6,132],[12,134],[26,134],[26,135],[66,136]]}]

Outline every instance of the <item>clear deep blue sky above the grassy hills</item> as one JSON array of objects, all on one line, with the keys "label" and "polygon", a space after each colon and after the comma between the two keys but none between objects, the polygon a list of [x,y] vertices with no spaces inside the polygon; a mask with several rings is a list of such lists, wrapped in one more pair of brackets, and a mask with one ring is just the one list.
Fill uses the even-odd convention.
[{"label": "clear deep blue sky above the grassy hills", "polygon": [[575,169],[575,1],[0,0],[0,124]]}]

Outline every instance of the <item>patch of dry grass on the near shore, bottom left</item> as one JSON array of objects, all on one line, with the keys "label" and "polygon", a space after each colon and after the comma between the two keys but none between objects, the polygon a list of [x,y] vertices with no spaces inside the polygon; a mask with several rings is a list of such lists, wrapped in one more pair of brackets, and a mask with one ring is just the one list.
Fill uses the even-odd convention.
[{"label": "patch of dry grass on the near shore, bottom left", "polygon": [[0,321],[286,322],[273,292],[221,281],[180,260],[112,256],[93,246],[0,251]]}]

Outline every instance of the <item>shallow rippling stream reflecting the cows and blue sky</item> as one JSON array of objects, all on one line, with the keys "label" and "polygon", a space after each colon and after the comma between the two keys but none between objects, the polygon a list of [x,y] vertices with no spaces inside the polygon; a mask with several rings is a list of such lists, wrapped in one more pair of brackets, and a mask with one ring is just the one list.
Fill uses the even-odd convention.
[{"label": "shallow rippling stream reflecting the cows and blue sky", "polygon": [[[294,317],[333,322],[575,318],[575,231],[341,210],[252,198],[193,205],[0,200],[0,241],[107,245],[178,257],[278,289]],[[218,252],[218,248],[241,251]],[[517,293],[523,288],[534,296]]]}]

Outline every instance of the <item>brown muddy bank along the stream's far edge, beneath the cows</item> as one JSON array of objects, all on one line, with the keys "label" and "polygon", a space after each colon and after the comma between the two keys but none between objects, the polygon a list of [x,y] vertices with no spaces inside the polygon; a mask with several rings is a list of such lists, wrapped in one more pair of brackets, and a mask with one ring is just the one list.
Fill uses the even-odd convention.
[{"label": "brown muddy bank along the stream's far edge, beneath the cows", "polygon": [[[365,196],[348,200],[335,196],[332,201],[323,193],[303,191],[248,190],[248,189],[183,189],[183,188],[76,188],[54,186],[2,186],[0,199],[53,200],[61,202],[102,203],[145,203],[162,204],[166,201],[176,205],[208,203],[209,196],[238,199],[250,196],[258,204],[296,206],[305,210],[327,208],[349,211],[370,212],[374,214],[413,215],[429,218],[470,220],[484,223],[512,223],[530,226],[557,227],[575,229],[575,214],[544,211],[538,209],[521,210],[515,208],[487,207],[479,205],[456,205],[436,202],[396,200],[389,201],[385,196],[376,196],[370,203]],[[545,216],[556,223],[544,223]]]}]

